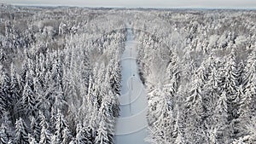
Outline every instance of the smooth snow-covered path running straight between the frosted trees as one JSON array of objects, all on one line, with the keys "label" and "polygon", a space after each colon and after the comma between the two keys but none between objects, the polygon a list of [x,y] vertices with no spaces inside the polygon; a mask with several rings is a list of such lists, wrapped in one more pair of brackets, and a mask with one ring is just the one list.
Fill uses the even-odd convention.
[{"label": "smooth snow-covered path running straight between the frosted trees", "polygon": [[121,57],[122,88],[119,97],[120,116],[115,124],[116,144],[147,144],[148,100],[137,70],[137,42],[127,28],[125,51]]}]

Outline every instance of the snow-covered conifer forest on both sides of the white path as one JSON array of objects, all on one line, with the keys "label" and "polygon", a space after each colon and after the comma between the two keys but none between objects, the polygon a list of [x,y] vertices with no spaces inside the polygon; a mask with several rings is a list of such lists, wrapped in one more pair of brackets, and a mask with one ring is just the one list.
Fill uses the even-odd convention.
[{"label": "snow-covered conifer forest on both sides of the white path", "polygon": [[256,11],[0,9],[0,144],[112,144],[131,24],[149,143],[256,143]]}]

